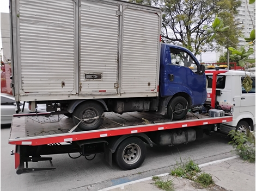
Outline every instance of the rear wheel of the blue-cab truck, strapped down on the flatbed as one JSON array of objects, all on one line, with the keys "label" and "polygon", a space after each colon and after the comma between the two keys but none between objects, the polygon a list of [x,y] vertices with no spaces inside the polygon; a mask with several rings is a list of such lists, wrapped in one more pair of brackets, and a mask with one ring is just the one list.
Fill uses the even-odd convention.
[{"label": "rear wheel of the blue-cab truck, strapped down on the flatbed", "polygon": [[[101,105],[99,103],[96,103],[95,101],[86,101],[78,105],[73,112],[73,122],[75,124],[78,124],[80,122],[79,119],[88,119],[88,118],[94,118],[97,116],[102,116],[104,113]],[[76,116],[77,118],[75,118]],[[82,131],[88,131],[88,130],[95,130],[100,127],[100,125],[103,122],[103,118],[97,118],[97,119],[90,119],[84,122],[81,122],[78,125],[78,128]]]}]

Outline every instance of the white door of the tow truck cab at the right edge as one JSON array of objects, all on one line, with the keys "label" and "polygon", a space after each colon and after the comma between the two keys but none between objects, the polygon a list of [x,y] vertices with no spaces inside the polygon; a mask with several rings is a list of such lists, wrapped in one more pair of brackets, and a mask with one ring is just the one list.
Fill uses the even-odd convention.
[{"label": "white door of the tow truck cab at the right edge", "polygon": [[246,92],[245,88],[242,87],[242,81],[245,77],[241,78],[241,98],[240,98],[240,113],[241,112],[250,112],[255,118],[255,77],[251,77],[253,84],[252,90]]}]

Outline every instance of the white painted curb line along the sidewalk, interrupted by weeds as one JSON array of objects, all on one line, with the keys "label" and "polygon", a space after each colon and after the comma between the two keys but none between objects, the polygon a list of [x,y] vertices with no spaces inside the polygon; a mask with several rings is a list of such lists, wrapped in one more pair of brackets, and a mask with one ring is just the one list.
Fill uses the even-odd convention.
[{"label": "white painted curb line along the sidewalk, interrupted by weeds", "polygon": [[[231,159],[234,159],[234,158],[238,158],[238,157],[239,156],[223,158],[221,160],[212,161],[212,162],[208,162],[208,163],[204,163],[204,164],[199,164],[198,166],[199,167],[205,167],[206,165],[216,164],[216,163],[220,163],[220,162],[223,162],[223,161],[228,161],[228,160],[231,160]],[[160,174],[160,175],[156,175],[156,176],[161,177],[161,176],[168,176],[168,175],[169,175],[169,173],[164,173],[164,174]],[[152,177],[154,177],[154,176],[150,176],[150,177],[147,177],[147,178],[144,178],[144,179],[139,179],[139,180],[135,180],[135,181],[131,181],[131,182],[126,182],[126,183],[123,183],[123,184],[118,184],[118,185],[115,185],[115,186],[112,186],[112,187],[108,187],[108,188],[103,188],[103,189],[98,190],[98,191],[112,190],[114,188],[124,187],[124,186],[130,185],[130,184],[134,184],[134,183],[138,183],[138,182],[143,182],[143,181],[147,181],[147,180],[152,180]]]}]

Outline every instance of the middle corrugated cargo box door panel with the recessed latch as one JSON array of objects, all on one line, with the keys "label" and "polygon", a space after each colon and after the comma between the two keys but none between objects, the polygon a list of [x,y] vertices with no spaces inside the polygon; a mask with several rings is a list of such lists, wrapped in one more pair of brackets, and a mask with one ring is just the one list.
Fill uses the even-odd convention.
[{"label": "middle corrugated cargo box door panel with the recessed latch", "polygon": [[[80,94],[117,93],[118,5],[81,2]],[[101,79],[85,79],[85,74],[101,74]]]}]

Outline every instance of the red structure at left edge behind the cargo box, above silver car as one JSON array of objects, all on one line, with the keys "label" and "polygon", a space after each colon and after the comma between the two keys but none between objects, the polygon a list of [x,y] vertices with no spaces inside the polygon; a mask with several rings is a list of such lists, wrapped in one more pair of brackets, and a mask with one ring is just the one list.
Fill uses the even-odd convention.
[{"label": "red structure at left edge behind the cargo box, above silver car", "polygon": [[11,84],[11,66],[4,64],[1,66],[1,93],[8,93],[13,95]]}]

